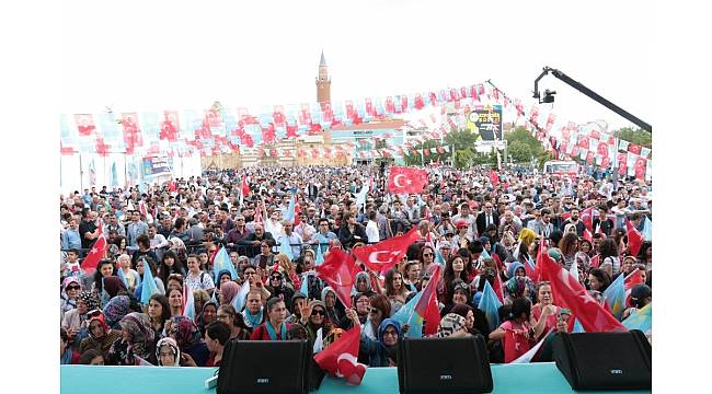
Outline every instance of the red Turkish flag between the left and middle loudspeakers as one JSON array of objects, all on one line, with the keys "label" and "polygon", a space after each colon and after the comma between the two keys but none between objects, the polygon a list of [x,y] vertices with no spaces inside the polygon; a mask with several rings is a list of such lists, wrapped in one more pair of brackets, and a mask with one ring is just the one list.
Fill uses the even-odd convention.
[{"label": "red Turkish flag between the left and middle loudspeakers", "polygon": [[355,324],[326,349],[318,352],[314,361],[330,374],[346,379],[348,384],[360,384],[368,368],[357,361],[360,336],[360,324]]}]

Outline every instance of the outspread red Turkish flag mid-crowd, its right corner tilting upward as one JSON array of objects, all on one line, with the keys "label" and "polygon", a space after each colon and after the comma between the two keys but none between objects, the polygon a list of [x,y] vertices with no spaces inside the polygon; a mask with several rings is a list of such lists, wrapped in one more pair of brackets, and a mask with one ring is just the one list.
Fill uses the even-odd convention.
[{"label": "outspread red Turkish flag mid-crowd, its right corner tilting upward", "polygon": [[359,246],[352,253],[368,268],[376,273],[383,273],[398,264],[403,258],[405,250],[420,237],[417,228],[413,228],[401,236],[394,236],[375,245]]}]

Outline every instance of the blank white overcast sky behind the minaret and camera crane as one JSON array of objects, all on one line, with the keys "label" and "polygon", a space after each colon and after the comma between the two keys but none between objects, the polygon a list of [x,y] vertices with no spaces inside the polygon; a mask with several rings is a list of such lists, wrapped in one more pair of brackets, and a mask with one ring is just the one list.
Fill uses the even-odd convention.
[{"label": "blank white overcast sky behind the minaret and camera crane", "polygon": [[[322,48],[332,101],[491,79],[529,109],[533,80],[550,66],[652,123],[653,86],[674,82],[652,79],[653,11],[643,1],[64,4],[65,113],[313,102]],[[558,92],[558,120],[630,126],[554,77],[540,88]]]}]

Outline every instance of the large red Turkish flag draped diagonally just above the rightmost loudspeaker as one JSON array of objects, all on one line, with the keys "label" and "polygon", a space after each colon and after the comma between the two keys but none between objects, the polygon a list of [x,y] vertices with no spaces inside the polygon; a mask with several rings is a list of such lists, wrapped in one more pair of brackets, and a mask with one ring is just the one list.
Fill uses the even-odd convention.
[{"label": "large red Turkish flag draped diagonally just above the rightmost loudspeaker", "polygon": [[[553,258],[543,258],[542,271],[551,282],[552,294],[559,305],[571,309],[586,333],[625,332],[625,328],[610,312],[588,294],[586,289]],[[537,262],[539,265],[539,262]]]}]

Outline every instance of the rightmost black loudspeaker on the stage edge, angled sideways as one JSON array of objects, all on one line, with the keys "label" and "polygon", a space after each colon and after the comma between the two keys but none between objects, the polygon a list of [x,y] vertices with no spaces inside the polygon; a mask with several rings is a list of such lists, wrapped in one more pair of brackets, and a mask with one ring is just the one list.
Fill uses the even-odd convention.
[{"label": "rightmost black loudspeaker on the stage edge, angled sideways", "polygon": [[573,390],[652,389],[652,348],[638,329],[559,333],[553,356]]}]

